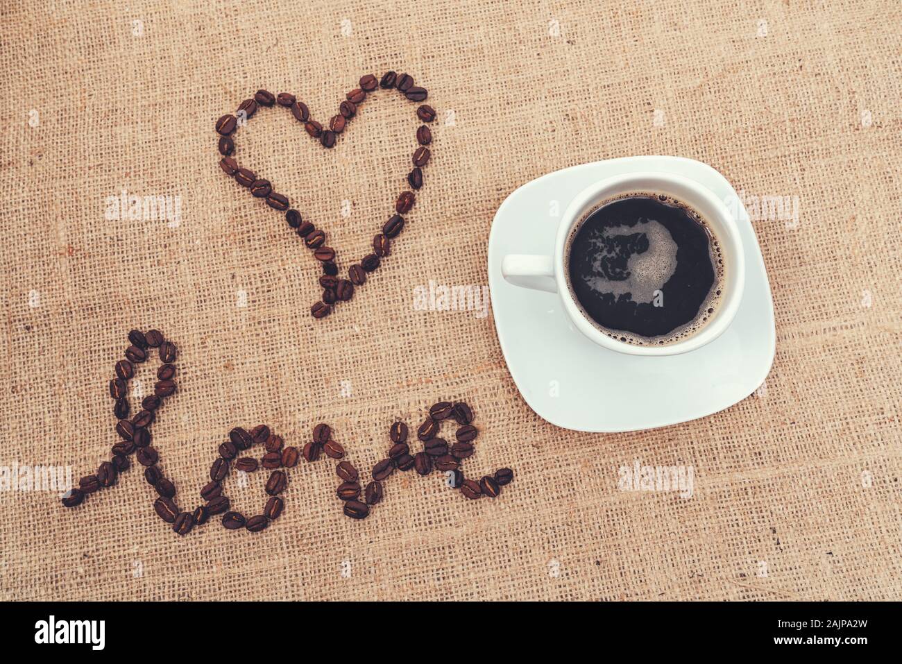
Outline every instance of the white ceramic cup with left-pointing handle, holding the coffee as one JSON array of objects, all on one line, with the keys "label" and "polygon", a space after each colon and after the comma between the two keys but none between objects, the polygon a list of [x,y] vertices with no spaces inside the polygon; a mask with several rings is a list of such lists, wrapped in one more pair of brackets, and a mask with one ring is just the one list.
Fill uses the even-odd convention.
[{"label": "white ceramic cup with left-pointing handle, holding the coffee", "polygon": [[[664,346],[636,346],[604,334],[586,318],[567,285],[566,244],[575,225],[584,221],[587,213],[604,200],[631,192],[665,194],[686,203],[711,226],[721,245],[722,293],[712,318],[694,335]],[[730,327],[745,286],[745,257],[736,221],[711,189],[675,173],[636,172],[601,180],[581,191],[564,212],[557,228],[553,254],[504,256],[502,275],[505,280],[523,288],[557,292],[576,329],[599,346],[628,355],[678,355],[711,343]]]}]

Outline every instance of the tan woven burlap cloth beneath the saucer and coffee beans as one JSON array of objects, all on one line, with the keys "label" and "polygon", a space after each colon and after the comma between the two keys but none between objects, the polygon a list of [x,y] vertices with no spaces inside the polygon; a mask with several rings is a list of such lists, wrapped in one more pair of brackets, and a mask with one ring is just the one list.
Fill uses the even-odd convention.
[{"label": "tan woven burlap cloth beneath the saucer and coffee beans", "polygon": [[[470,502],[438,475],[396,475],[355,522],[333,464],[302,464],[271,529],[184,539],[134,470],[74,511],[6,491],[3,597],[899,598],[902,12],[813,5],[5,2],[0,465],[92,472],[116,440],[106,392],[125,333],[160,327],[179,393],[153,435],[185,507],[235,425],[302,444],[326,420],[363,468],[394,418],[415,425],[439,397],[476,412],[466,470],[517,478]],[[327,119],[385,69],[439,111],[427,183],[391,259],[315,322],[318,264],[219,171],[213,124],[260,87]],[[240,161],[345,261],[388,217],[416,145],[416,105],[375,97],[331,152],[282,109],[236,134]],[[645,153],[797,198],[797,225],[755,222],[777,359],[756,395],[704,420],[557,429],[521,400],[491,315],[415,310],[413,292],[487,283],[492,216],[520,184]],[[122,189],[180,196],[179,223],[107,219]],[[635,459],[693,466],[694,496],[619,491]],[[230,480],[248,514],[259,475]]]}]

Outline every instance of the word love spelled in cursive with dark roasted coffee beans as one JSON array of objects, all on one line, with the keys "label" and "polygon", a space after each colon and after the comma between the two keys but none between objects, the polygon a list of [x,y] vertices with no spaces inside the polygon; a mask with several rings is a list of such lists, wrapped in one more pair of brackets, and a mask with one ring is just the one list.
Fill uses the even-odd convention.
[{"label": "word love spelled in cursive with dark roasted coffee beans", "polygon": [[[433,469],[446,474],[447,486],[459,489],[467,498],[481,496],[496,497],[501,487],[513,480],[510,468],[501,468],[492,475],[483,475],[476,481],[465,478],[461,464],[474,454],[473,442],[478,430],[473,425],[473,410],[463,401],[439,401],[428,411],[426,420],[419,426],[417,438],[422,441],[422,450],[411,454],[408,444],[407,424],[396,421],[389,429],[391,448],[387,456],[376,462],[370,475],[372,481],[362,487],[361,477],[356,468],[345,460],[345,447],[336,442],[332,429],[325,423],[313,429],[311,439],[300,449],[285,446],[281,436],[273,433],[265,424],[247,430],[235,427],[229,431],[228,439],[217,447],[217,456],[210,466],[209,481],[200,489],[200,503],[193,511],[183,511],[176,502],[176,485],[163,475],[160,468],[160,454],[151,445],[151,425],[163,401],[176,392],[173,380],[176,374],[175,344],[167,341],[159,330],[143,333],[133,329],[128,333],[130,346],[125,349],[125,359],[115,364],[115,378],[109,383],[110,397],[114,400],[113,413],[115,432],[121,440],[113,446],[109,461],[97,468],[95,475],[86,475],[78,481],[78,487],[67,492],[62,503],[66,507],[77,507],[87,496],[117,484],[119,476],[131,466],[134,455],[144,467],[144,479],[153,487],[156,498],[153,510],[162,521],[170,524],[179,535],[187,535],[195,526],[202,526],[210,517],[219,516],[226,530],[265,530],[281,515],[285,502],[282,494],[288,488],[288,471],[298,465],[301,457],[308,463],[326,456],[337,460],[336,475],[342,480],[336,489],[338,499],[343,503],[345,516],[351,519],[365,519],[373,505],[380,503],[384,495],[383,483],[395,470],[405,472],[411,468],[419,475],[429,475]],[[158,382],[153,393],[144,397],[141,410],[131,419],[132,408],[128,401],[128,384],[134,376],[135,367],[146,362],[157,349],[161,365],[157,369]],[[443,438],[437,438],[444,420],[457,423],[456,442],[448,445]],[[248,451],[254,446],[262,446],[262,457],[257,459]],[[232,469],[243,473],[254,473],[265,469],[270,472],[264,487],[265,503],[260,513],[248,517],[238,512],[224,491],[226,477]]]}]

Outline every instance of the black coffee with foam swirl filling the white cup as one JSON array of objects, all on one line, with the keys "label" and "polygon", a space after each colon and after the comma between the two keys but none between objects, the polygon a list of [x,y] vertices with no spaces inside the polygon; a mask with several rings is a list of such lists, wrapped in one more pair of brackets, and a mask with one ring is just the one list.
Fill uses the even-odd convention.
[{"label": "black coffee with foam swirl filling the white cup", "polygon": [[584,217],[568,244],[569,287],[610,337],[639,346],[674,343],[704,327],[717,308],[720,244],[675,198],[610,198]]}]

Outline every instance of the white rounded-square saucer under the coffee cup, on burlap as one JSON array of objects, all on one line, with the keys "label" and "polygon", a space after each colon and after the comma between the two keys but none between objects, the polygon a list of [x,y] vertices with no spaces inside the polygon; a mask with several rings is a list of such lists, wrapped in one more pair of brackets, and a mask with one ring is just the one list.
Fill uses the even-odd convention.
[{"label": "white rounded-square saucer under the coffee cup, on burlap", "polygon": [[774,360],[768,274],[741,202],[736,221],[745,248],[746,281],[740,309],[721,337],[690,353],[640,357],[601,348],[573,327],[557,294],[504,281],[506,254],[551,254],[559,215],[570,200],[593,182],[630,171],[676,172],[724,201],[738,198],[723,175],[701,161],[626,157],[532,180],[504,200],[492,223],[489,288],[504,359],[529,407],[565,429],[633,431],[695,420],[749,396]]}]

